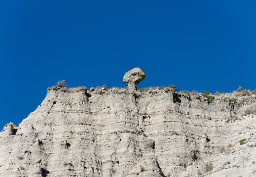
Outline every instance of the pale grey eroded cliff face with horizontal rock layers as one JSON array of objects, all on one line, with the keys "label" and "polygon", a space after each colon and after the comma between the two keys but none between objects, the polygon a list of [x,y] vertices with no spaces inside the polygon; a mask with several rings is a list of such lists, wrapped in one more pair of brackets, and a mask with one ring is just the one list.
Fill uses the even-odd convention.
[{"label": "pale grey eroded cliff face with horizontal rock layers", "polygon": [[[144,93],[48,88],[35,112],[19,126],[6,124],[0,133],[0,176],[195,177],[202,167],[194,162],[210,159],[216,165],[206,176],[214,177],[225,174],[219,148],[241,148],[241,139],[255,143],[256,118],[222,120],[247,109],[256,110],[256,97],[210,103],[171,88]],[[237,155],[236,164],[255,158],[256,147],[242,146],[251,155],[246,160]],[[246,167],[253,177],[256,165]],[[236,167],[236,175],[245,174],[241,168]],[[226,172],[229,177],[232,168]]]}]

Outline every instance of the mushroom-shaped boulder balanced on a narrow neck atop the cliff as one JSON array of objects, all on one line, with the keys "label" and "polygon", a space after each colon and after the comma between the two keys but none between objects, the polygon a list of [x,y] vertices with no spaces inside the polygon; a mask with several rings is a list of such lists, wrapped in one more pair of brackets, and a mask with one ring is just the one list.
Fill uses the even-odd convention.
[{"label": "mushroom-shaped boulder balanced on a narrow neck atop the cliff", "polygon": [[145,73],[141,70],[141,68],[133,68],[125,73],[123,82],[126,84],[128,89],[137,90],[137,85],[144,80],[145,77]]}]

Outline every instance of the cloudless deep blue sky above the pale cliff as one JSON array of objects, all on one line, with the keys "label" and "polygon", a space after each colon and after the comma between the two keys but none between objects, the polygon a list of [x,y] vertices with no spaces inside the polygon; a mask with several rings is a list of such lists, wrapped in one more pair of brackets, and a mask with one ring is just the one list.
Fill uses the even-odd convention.
[{"label": "cloudless deep blue sky above the pale cliff", "polygon": [[0,129],[68,87],[256,89],[256,1],[1,0]]}]

